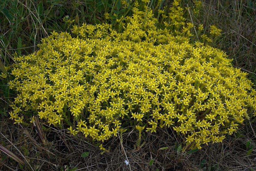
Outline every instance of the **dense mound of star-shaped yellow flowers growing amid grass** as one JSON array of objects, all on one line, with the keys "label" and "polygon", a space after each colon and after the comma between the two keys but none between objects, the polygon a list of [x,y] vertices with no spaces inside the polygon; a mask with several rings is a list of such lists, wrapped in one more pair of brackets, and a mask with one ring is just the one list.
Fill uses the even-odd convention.
[{"label": "dense mound of star-shaped yellow flowers growing amid grass", "polygon": [[38,115],[101,142],[127,126],[151,133],[167,127],[190,149],[222,142],[255,116],[256,91],[223,51],[190,41],[194,26],[175,3],[161,29],[151,10],[135,3],[117,29],[74,26],[71,34],[44,38],[33,54],[17,55],[11,119]]}]

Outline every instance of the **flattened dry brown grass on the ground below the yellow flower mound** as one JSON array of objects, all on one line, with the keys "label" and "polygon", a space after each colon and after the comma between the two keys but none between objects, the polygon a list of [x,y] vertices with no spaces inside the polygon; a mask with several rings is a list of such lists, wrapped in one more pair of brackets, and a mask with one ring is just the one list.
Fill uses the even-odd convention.
[{"label": "flattened dry brown grass on the ground below the yellow flower mound", "polygon": [[[44,125],[47,127],[46,125]],[[247,123],[239,131],[243,135],[240,138],[236,136],[228,136],[223,143],[209,144],[204,146],[200,151],[192,154],[178,153],[175,151],[175,136],[172,133],[170,136],[166,131],[159,131],[157,134],[148,134],[144,136],[146,144],[141,149],[136,149],[137,132],[130,131],[122,135],[123,142],[121,143],[118,137],[114,137],[108,141],[106,146],[109,146],[109,152],[100,154],[98,147],[88,143],[84,137],[69,136],[64,129],[51,128],[50,132],[46,133],[47,143],[33,143],[21,131],[18,125],[12,125],[9,120],[1,120],[0,142],[4,142],[6,147],[12,152],[27,161],[32,167],[27,167],[25,170],[61,170],[64,168],[78,168],[77,170],[163,170],[163,171],[192,171],[192,170],[248,170],[256,169],[256,150],[251,155],[247,156],[246,143],[252,140],[252,144],[256,146],[256,137],[253,135],[252,128],[256,129],[256,124],[252,127]],[[30,135],[40,142],[36,131],[27,128]],[[12,143],[9,143],[8,140]],[[123,145],[123,147],[122,147]],[[19,153],[15,147],[21,152]],[[38,146],[42,149],[40,152]],[[168,147],[166,150],[159,150],[161,147]],[[83,152],[89,152],[88,157],[80,157]],[[125,153],[124,153],[125,152]],[[129,165],[124,161],[126,156]],[[0,154],[2,159],[3,153]],[[150,160],[154,160],[152,166],[149,165]],[[205,164],[200,168],[200,162],[205,160]],[[0,169],[16,170],[19,165],[7,158],[4,162],[0,162]],[[67,166],[67,167],[65,167]],[[8,169],[7,169],[8,170]]]}]

